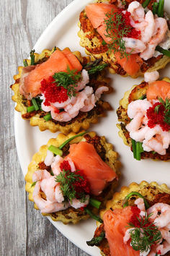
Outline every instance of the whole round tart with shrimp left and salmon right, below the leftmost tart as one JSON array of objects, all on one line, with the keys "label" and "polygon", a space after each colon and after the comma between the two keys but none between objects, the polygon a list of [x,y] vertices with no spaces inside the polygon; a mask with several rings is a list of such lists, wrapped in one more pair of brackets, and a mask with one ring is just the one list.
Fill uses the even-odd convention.
[{"label": "whole round tart with shrimp left and salmon right, below the leftmost tart", "polygon": [[36,153],[25,176],[29,199],[53,221],[77,223],[112,198],[120,176],[118,154],[95,132],[58,135]]}]

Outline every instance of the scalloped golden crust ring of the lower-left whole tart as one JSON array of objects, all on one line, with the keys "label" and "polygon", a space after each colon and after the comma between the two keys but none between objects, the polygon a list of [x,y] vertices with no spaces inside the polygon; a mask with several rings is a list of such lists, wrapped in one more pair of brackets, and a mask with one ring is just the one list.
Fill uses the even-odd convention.
[{"label": "scalloped golden crust ring of the lower-left whole tart", "polygon": [[[50,145],[55,145],[56,147],[59,147],[63,142],[68,140],[69,137],[73,137],[76,135],[75,133],[71,132],[68,135],[63,135],[62,133],[58,135],[58,137],[50,139],[48,141],[47,145],[42,145],[39,152],[35,153],[32,157],[32,161],[30,165],[28,166],[28,171],[25,176],[25,189],[27,192],[29,192],[29,200],[33,201],[32,193],[34,191],[34,187],[32,187],[32,174],[37,171],[38,168],[45,168],[43,161],[45,160],[45,157],[47,155],[47,150]],[[89,140],[97,140],[97,143],[93,142],[94,148],[96,148],[97,153],[101,156],[103,161],[105,161],[111,168],[115,170],[117,173],[117,176],[120,176],[120,161],[117,160],[118,154],[113,150],[112,144],[109,144],[106,142],[105,137],[98,137],[95,132],[89,132],[88,134],[84,135],[84,137],[77,137],[76,139],[72,140],[70,144],[78,143],[81,140],[86,140],[87,142],[90,142]],[[104,192],[102,192],[101,195],[97,198],[98,200],[102,200],[101,208],[105,208],[107,200],[112,198],[112,195],[115,191],[115,187],[117,187],[117,180],[114,180],[111,184],[109,184],[108,188],[104,189]],[[35,204],[35,209],[37,208],[37,205]],[[95,213],[97,213],[97,209],[91,208]],[[89,215],[86,214],[84,210],[80,209],[74,209],[74,208],[68,208],[66,210],[61,210],[56,213],[50,213],[50,214],[43,214],[45,216],[50,216],[53,221],[62,221],[64,224],[67,224],[69,222],[77,223],[83,219],[89,218]]]}]

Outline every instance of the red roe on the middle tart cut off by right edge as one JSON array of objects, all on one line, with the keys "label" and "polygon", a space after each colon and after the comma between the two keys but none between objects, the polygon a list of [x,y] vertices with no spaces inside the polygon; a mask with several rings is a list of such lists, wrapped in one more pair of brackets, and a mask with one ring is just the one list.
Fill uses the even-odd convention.
[{"label": "red roe on the middle tart cut off by right edge", "polygon": [[[159,106],[158,111],[155,111],[156,106]],[[164,121],[165,107],[161,102],[155,103],[152,107],[147,109],[146,116],[148,117],[148,127],[154,128],[156,124],[159,124],[161,129],[165,132],[169,132],[170,125]]]}]

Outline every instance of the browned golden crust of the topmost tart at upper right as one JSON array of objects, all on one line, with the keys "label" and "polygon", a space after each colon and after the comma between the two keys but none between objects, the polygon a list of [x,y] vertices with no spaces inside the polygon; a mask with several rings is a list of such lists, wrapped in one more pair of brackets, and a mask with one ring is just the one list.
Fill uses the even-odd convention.
[{"label": "browned golden crust of the topmost tart at upper right", "polygon": [[[150,5],[153,4],[155,0],[152,0],[150,2]],[[102,2],[108,2],[108,0],[99,0],[97,1],[99,3]],[[130,4],[131,0],[125,1],[126,7],[128,8],[128,4]],[[140,0],[140,4],[143,2],[143,0]],[[110,0],[109,3],[117,5],[116,0]],[[150,6],[151,8],[151,6]],[[94,29],[94,27],[91,25],[90,20],[86,16],[85,10],[83,10],[79,17],[79,38],[80,38],[80,45],[85,48],[86,54],[90,55],[92,59],[100,59],[102,58],[104,63],[109,64],[109,72],[112,74],[120,74],[123,77],[127,77],[129,74],[125,72],[122,67],[120,67],[120,64],[117,64],[117,61],[115,59],[115,55],[112,51],[108,50],[107,45],[103,45],[103,38],[99,33],[97,33],[97,30]],[[168,56],[160,55],[158,57],[153,57],[151,59],[148,59],[148,61],[143,61],[143,64],[140,67],[140,71],[138,74],[135,74],[132,76],[133,78],[143,76],[143,74],[148,71],[152,72],[158,69],[164,69],[166,67],[166,64],[170,62],[170,58]]]}]

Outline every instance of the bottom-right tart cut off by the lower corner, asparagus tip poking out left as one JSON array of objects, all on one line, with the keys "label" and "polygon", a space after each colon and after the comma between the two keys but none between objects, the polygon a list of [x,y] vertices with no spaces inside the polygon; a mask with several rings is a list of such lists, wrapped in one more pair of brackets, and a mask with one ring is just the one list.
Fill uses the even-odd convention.
[{"label": "bottom-right tart cut off by the lower corner, asparagus tip poking out left", "polygon": [[170,189],[156,182],[122,187],[101,211],[94,238],[104,256],[169,255]]}]

